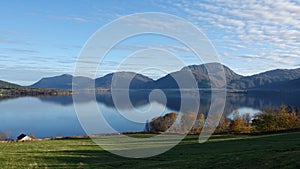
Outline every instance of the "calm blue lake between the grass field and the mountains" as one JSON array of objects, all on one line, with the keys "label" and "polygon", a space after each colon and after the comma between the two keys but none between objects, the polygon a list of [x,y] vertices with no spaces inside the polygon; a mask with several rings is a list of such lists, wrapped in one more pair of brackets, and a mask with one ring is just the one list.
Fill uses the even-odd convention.
[{"label": "calm blue lake between the grass field and the mountains", "polygon": [[[145,111],[150,106],[154,110],[157,108],[160,111],[164,108],[159,101],[150,104],[147,98],[148,96],[145,96],[145,94],[136,94],[131,97],[131,101],[135,109],[140,111]],[[230,93],[227,94],[224,114],[227,117],[231,117],[234,111],[255,114],[265,108],[278,107],[281,104],[300,107],[299,98],[300,93]],[[97,102],[105,119],[118,132],[144,130],[145,123],[129,121],[119,114],[118,110],[114,107],[110,94],[98,95],[97,101],[83,99],[79,104],[86,104],[88,106],[91,102]],[[160,113],[166,114],[178,111],[179,103],[180,97],[170,96],[167,107]],[[210,105],[209,95],[201,95],[200,103],[199,112],[206,113]],[[121,109],[125,112],[131,111],[126,105],[123,105]],[[146,120],[151,120],[157,115],[160,114],[153,112],[153,116],[147,117],[144,120],[146,122]],[[0,117],[0,133],[8,134],[12,139],[16,139],[21,133],[34,134],[38,138],[86,135],[77,119],[72,96],[2,99],[0,100]]]}]

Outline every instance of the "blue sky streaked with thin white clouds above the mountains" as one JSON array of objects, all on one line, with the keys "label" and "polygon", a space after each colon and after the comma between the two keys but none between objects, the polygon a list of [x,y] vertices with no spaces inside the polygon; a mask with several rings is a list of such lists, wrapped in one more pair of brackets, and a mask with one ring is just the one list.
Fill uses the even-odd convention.
[{"label": "blue sky streaked with thin white clouds above the mountains", "polygon": [[[0,79],[30,85],[42,77],[72,74],[82,47],[97,30],[143,12],[163,12],[193,23],[210,40],[220,62],[238,74],[300,67],[300,1],[10,0],[0,5]],[[180,55],[186,65],[201,64],[176,40],[144,35],[117,44],[98,75],[113,72],[124,57],[149,46]],[[157,56],[159,62],[152,62],[170,69],[145,72],[154,79],[175,69],[170,57]]]}]

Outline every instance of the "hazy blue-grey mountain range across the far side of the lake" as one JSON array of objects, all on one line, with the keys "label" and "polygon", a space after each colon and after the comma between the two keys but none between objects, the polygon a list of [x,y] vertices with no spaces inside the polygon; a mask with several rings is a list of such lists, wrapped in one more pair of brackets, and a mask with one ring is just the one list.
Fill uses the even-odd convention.
[{"label": "hazy blue-grey mountain range across the far side of the lake", "polygon": [[[183,67],[181,70],[167,74],[157,80],[153,80],[142,74],[134,72],[116,72],[110,73],[103,77],[95,79],[95,87],[101,89],[110,89],[110,87],[120,86],[120,84],[127,83],[129,79],[130,89],[178,89],[178,84],[173,77],[185,80],[186,76],[193,75],[199,88],[208,89],[210,87],[219,86],[222,87],[221,74],[216,74],[211,76],[214,78],[213,82],[210,83],[210,78],[208,76],[209,68],[211,71],[217,71],[221,68],[224,69],[227,89],[229,90],[281,90],[281,91],[293,91],[300,90],[300,68],[298,69],[276,69],[252,76],[242,76],[234,71],[232,71],[227,66],[221,65],[219,63],[207,63],[201,65],[190,65]],[[115,78],[113,83],[112,78]],[[75,77],[77,80],[83,84],[90,84],[93,79],[87,77]],[[30,85],[32,88],[52,88],[52,89],[72,89],[72,75],[63,74],[55,77],[42,78],[38,82]],[[0,83],[1,84],[1,83]],[[74,84],[78,85],[78,84]],[[1,86],[0,86],[1,87]],[[90,86],[86,86],[89,88]],[[124,88],[128,88],[124,86]]]}]

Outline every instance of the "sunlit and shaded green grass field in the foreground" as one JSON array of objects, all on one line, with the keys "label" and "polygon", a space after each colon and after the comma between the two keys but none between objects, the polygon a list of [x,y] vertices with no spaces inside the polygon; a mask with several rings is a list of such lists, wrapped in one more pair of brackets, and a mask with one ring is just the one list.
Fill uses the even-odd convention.
[{"label": "sunlit and shaded green grass field in the foreground", "polygon": [[90,139],[5,143],[0,150],[0,168],[300,168],[300,132],[215,135],[203,144],[187,136],[170,151],[145,159],[113,155]]}]

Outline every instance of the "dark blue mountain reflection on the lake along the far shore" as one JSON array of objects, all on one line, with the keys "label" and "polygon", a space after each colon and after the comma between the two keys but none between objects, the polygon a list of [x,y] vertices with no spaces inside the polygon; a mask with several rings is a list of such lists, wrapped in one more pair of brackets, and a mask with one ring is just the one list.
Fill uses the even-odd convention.
[{"label": "dark blue mountain reflection on the lake along the far shore", "polygon": [[[174,111],[180,109],[181,97],[178,91],[166,92],[167,104],[166,106]],[[188,96],[187,96],[188,97]],[[200,110],[199,112],[206,114],[210,107],[211,94],[208,92],[200,92]],[[280,93],[280,92],[248,92],[248,93],[227,93],[226,106],[224,113],[229,114],[233,110],[240,107],[249,107],[253,109],[265,109],[268,107],[278,107],[282,104],[291,107],[300,107],[300,92],[298,93]],[[198,101],[192,97],[189,98],[189,104],[197,104]],[[72,96],[57,96],[57,97],[42,97],[41,101],[51,102],[61,105],[73,104]],[[93,101],[93,97],[89,95],[80,97],[79,104]],[[114,102],[110,93],[102,93],[96,95],[96,100],[108,107],[114,107]],[[130,92],[130,100],[133,106],[139,107],[149,104],[148,91],[134,91]],[[163,100],[156,98],[154,101],[163,103]],[[129,106],[119,104],[119,108],[128,108]]]}]

